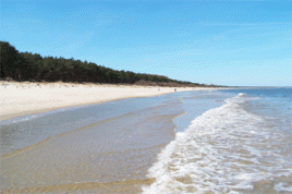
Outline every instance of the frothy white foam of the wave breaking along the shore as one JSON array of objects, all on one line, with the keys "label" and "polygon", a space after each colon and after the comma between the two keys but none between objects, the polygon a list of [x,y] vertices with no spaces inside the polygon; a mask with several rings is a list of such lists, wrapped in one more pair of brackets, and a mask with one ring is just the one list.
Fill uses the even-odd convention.
[{"label": "frothy white foam of the wave breaking along the shore", "polygon": [[229,98],[177,133],[149,169],[148,177],[156,181],[143,187],[144,193],[236,193],[273,179],[287,160],[275,155],[277,147],[265,146],[280,136],[258,128],[264,120],[240,107],[243,97]]}]

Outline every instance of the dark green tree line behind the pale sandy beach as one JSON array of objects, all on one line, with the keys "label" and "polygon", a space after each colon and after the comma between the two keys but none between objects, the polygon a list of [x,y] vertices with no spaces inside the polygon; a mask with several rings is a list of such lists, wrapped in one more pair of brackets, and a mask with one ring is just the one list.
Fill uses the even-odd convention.
[{"label": "dark green tree line behind the pale sandy beach", "polygon": [[112,70],[93,62],[74,60],[73,58],[41,57],[38,53],[20,52],[8,41],[0,41],[0,75],[2,80],[112,84],[134,84],[138,81],[146,81],[157,83],[158,85],[168,85],[170,83],[178,86],[200,85],[171,80],[161,75]]}]

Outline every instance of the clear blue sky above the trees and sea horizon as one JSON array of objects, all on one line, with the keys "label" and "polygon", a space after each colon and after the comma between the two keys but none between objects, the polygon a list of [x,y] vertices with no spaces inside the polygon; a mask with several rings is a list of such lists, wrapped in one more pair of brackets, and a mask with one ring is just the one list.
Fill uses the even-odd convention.
[{"label": "clear blue sky above the trees and sea horizon", "polygon": [[2,0],[20,51],[203,84],[292,86],[292,2]]}]

